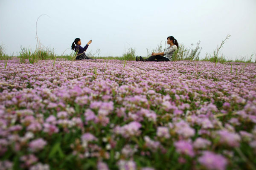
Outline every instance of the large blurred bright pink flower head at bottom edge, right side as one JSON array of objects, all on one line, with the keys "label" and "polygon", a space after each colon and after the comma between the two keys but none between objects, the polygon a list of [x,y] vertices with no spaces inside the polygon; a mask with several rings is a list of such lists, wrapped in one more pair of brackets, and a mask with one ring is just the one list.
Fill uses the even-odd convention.
[{"label": "large blurred bright pink flower head at bottom edge, right side", "polygon": [[227,166],[227,159],[224,156],[210,151],[204,151],[198,162],[209,170],[225,170]]}]

